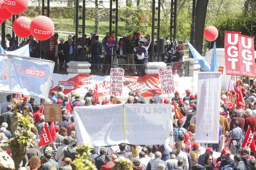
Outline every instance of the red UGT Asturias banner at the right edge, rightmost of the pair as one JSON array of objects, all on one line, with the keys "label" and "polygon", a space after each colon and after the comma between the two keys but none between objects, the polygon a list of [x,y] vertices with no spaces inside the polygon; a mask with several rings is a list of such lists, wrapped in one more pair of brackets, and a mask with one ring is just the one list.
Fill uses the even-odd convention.
[{"label": "red UGT Asturias banner at the right edge, rightmost of the pair", "polygon": [[254,38],[245,35],[238,35],[239,57],[241,74],[246,77],[256,78],[254,59]]}]

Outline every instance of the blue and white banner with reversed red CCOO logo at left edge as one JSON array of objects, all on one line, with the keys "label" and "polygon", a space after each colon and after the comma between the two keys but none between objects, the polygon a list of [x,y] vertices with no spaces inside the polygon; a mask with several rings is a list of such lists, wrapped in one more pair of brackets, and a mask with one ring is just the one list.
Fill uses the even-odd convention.
[{"label": "blue and white banner with reversed red CCOO logo at left edge", "polygon": [[48,96],[54,62],[13,55],[0,55],[0,61],[1,91],[38,98]]}]

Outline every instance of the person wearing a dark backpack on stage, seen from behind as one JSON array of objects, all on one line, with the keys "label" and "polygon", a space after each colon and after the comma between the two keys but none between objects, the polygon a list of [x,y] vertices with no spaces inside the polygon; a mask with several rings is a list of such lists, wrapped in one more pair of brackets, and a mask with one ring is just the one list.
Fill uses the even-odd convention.
[{"label": "person wearing a dark backpack on stage, seen from behind", "polygon": [[[96,35],[95,37],[95,41],[92,42],[92,45],[91,45],[91,53],[92,53],[92,57],[93,57],[93,69],[92,71],[93,72],[96,72],[98,71],[97,69],[101,68],[100,67],[100,55],[101,55],[101,52],[102,52],[102,44],[99,42],[99,35]],[[98,67],[99,66],[99,67]]]}]

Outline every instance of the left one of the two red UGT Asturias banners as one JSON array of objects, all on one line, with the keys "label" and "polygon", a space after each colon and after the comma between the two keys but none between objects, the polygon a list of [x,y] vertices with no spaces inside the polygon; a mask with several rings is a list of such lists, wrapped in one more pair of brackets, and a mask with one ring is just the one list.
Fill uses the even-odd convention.
[{"label": "left one of the two red UGT Asturias banners", "polygon": [[241,75],[241,59],[238,56],[238,35],[241,35],[241,32],[225,31],[225,66],[227,75]]}]

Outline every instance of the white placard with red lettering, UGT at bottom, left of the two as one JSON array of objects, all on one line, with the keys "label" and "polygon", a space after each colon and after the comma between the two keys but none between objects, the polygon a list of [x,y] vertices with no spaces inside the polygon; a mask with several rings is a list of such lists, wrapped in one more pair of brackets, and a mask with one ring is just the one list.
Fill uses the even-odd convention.
[{"label": "white placard with red lettering, UGT at bottom, left of the two", "polygon": [[111,68],[109,95],[123,96],[124,69]]}]

